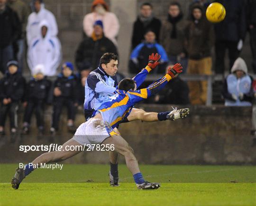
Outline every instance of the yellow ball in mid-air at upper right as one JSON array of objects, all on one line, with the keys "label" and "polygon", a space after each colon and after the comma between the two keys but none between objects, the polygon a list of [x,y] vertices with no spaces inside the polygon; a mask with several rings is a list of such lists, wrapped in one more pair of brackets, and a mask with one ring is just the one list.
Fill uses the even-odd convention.
[{"label": "yellow ball in mid-air at upper right", "polygon": [[221,22],[226,16],[226,9],[220,3],[211,3],[206,9],[206,18],[212,23]]}]

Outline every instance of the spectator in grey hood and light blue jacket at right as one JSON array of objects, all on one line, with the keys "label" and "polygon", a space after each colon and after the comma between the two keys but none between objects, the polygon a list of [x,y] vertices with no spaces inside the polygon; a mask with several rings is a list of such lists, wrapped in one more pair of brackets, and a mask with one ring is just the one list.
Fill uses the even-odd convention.
[{"label": "spectator in grey hood and light blue jacket at right", "polygon": [[252,106],[254,100],[253,78],[247,74],[245,61],[238,57],[225,79],[222,95],[225,106]]}]

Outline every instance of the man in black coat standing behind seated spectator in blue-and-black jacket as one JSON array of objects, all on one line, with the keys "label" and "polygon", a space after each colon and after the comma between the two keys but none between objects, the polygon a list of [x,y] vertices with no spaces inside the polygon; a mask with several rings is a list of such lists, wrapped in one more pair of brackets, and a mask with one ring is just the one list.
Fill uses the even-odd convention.
[{"label": "man in black coat standing behind seated spectator in blue-and-black jacket", "polygon": [[155,40],[159,42],[161,21],[154,17],[152,10],[153,6],[150,3],[143,3],[140,6],[140,14],[133,24],[132,49],[144,40],[144,35],[147,30],[154,31]]}]

